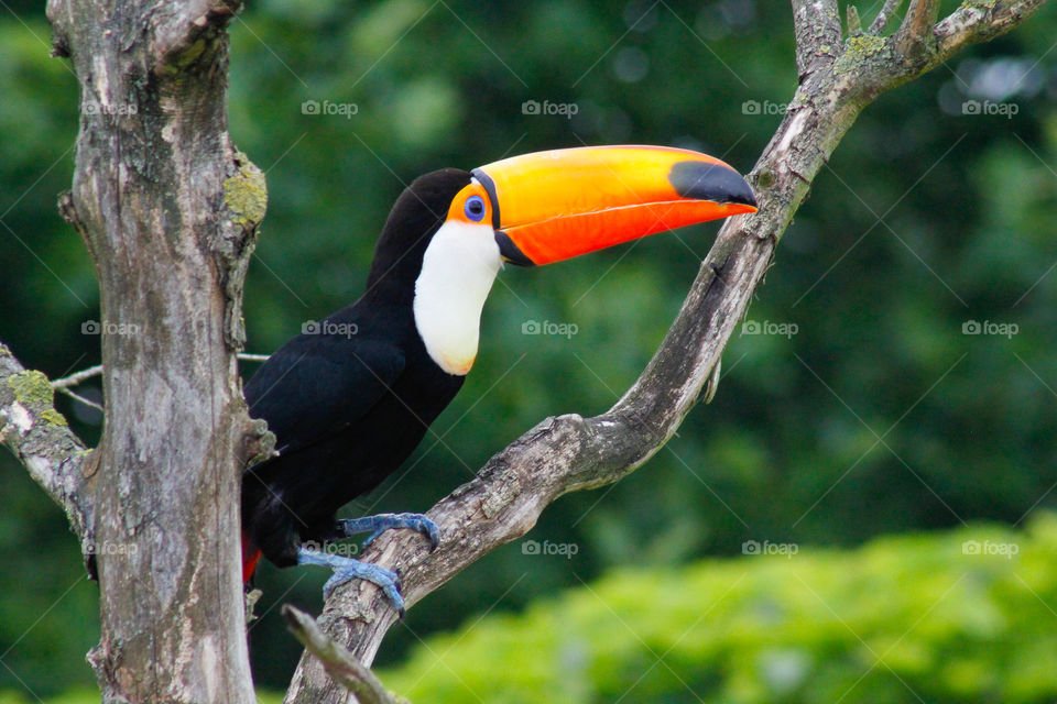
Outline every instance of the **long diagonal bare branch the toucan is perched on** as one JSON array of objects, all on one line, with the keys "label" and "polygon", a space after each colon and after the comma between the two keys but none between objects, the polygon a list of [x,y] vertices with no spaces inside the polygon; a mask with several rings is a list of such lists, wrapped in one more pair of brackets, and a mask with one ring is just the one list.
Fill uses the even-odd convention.
[{"label": "long diagonal bare branch the toucan is perched on", "polygon": [[[400,569],[410,607],[478,558],[524,535],[562,494],[615,482],[649,460],[701,398],[782,233],[859,111],[884,90],[949,56],[954,47],[1012,29],[1043,1],[1014,1],[982,15],[962,8],[952,15],[957,20],[948,18],[945,31],[937,32],[946,48],[926,52],[926,62],[908,65],[894,51],[894,36],[860,35],[841,42],[832,0],[793,0],[800,81],[782,124],[749,175],[760,210],[732,218],[720,230],[642,376],[601,416],[544,420],[442,499],[428,512],[440,529],[435,551],[429,552],[417,534],[389,531],[362,558]],[[894,10],[894,4],[885,10]],[[905,24],[909,36],[918,36],[920,22],[934,10],[931,2],[914,3]],[[378,587],[355,581],[335,591],[320,625],[369,664],[395,619]],[[346,696],[317,660],[303,656],[286,702],[342,702]]]}]

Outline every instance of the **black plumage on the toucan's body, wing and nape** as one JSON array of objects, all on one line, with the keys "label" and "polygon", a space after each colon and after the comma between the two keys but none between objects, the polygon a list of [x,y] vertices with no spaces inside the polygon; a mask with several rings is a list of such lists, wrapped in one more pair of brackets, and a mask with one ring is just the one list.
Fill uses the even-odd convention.
[{"label": "black plumage on the toucan's body, wing and nape", "polygon": [[268,421],[279,450],[242,482],[250,573],[258,550],[288,566],[302,542],[338,537],[338,508],[395,472],[462,386],[427,354],[413,302],[426,246],[469,183],[469,173],[451,168],[405,189],[366,293],[286,342],[247,383],[250,416]]}]

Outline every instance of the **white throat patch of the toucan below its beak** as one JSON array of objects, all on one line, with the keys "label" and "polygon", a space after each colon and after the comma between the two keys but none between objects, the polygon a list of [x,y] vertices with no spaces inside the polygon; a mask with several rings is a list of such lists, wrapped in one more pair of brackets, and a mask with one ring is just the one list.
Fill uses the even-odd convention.
[{"label": "white throat patch of the toucan below its beak", "polygon": [[415,280],[415,327],[429,358],[448,374],[473,366],[481,309],[502,267],[490,224],[449,220],[426,248]]}]

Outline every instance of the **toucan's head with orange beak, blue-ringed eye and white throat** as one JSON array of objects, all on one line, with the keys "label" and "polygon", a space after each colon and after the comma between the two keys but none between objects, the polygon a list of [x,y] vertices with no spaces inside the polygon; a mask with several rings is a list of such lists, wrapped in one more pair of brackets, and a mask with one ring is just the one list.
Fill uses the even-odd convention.
[{"label": "toucan's head with orange beak, blue-ringed eye and white throat", "polygon": [[369,285],[414,282],[415,324],[429,356],[466,374],[481,308],[503,262],[549,264],[695,222],[754,212],[723,162],[662,146],[524,154],[472,172],[443,169],[400,197]]}]

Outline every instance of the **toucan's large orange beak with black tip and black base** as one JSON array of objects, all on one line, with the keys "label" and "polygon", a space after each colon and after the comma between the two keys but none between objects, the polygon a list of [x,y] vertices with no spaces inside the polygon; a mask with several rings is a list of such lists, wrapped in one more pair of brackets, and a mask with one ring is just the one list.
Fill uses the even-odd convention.
[{"label": "toucan's large orange beak with black tip and black base", "polygon": [[586,146],[473,169],[503,258],[531,266],[756,211],[752,189],[711,156],[664,146]]}]

